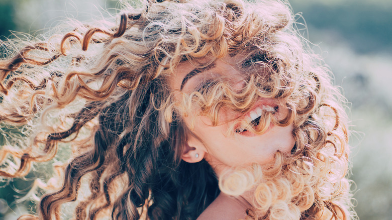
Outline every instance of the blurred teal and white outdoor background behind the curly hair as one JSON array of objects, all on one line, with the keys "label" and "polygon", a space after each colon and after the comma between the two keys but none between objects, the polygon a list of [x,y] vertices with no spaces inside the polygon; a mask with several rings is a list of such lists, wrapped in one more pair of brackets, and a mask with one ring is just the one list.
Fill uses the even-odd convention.
[{"label": "blurred teal and white outdoor background behind the curly hair", "polygon": [[[363,220],[392,219],[392,1],[289,2],[351,107],[355,210]],[[90,20],[117,6],[117,0],[0,0],[0,39],[13,38],[9,30],[39,35],[66,17]],[[16,202],[31,187],[31,176],[0,184],[0,219],[32,209],[31,201]]]}]

